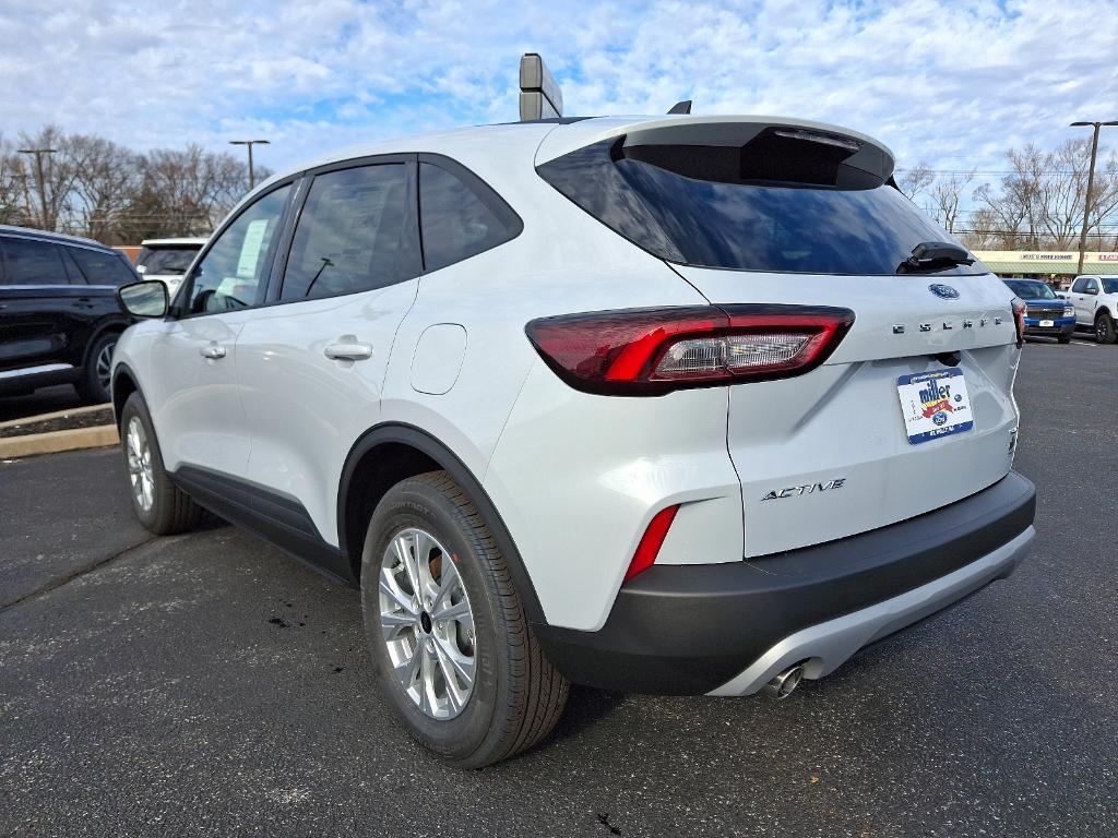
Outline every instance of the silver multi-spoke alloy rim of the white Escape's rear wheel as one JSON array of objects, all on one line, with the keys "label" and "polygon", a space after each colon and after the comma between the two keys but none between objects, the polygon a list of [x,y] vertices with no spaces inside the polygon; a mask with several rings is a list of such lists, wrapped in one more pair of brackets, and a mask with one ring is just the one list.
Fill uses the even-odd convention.
[{"label": "silver multi-spoke alloy rim of the white Escape's rear wheel", "polygon": [[378,599],[404,692],[430,718],[454,718],[476,673],[474,615],[454,556],[430,533],[401,530],[385,550]]}]

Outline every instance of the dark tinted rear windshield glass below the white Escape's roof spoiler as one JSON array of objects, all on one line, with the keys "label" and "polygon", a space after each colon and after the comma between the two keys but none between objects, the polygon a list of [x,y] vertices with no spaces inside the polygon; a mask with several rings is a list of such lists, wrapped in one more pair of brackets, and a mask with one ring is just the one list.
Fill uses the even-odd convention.
[{"label": "dark tinted rear windshield glass below the white Escape's roof spoiler", "polygon": [[[656,146],[626,156],[623,142],[588,145],[537,171],[607,227],[669,261],[892,275],[921,242],[958,245],[897,189],[844,177],[841,165],[812,169],[792,161],[781,182],[783,161],[751,160],[748,146],[735,149],[739,156],[728,165],[724,149]],[[839,171],[836,185],[821,184],[824,170]],[[934,273],[987,272],[976,261]]]}]

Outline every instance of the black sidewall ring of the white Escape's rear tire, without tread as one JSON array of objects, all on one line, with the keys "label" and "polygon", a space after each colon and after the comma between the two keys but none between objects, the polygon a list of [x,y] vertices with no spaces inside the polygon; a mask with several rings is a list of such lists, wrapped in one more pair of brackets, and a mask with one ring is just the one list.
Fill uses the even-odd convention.
[{"label": "black sidewall ring of the white Escape's rear tire, without tread", "polygon": [[[470,599],[474,617],[475,676],[465,708],[449,720],[430,718],[404,692],[396,678],[380,627],[379,579],[385,551],[401,530],[429,532],[457,559],[455,566]],[[378,505],[369,522],[361,558],[361,603],[366,637],[381,688],[405,726],[420,744],[451,760],[463,760],[476,751],[492,731],[492,721],[505,688],[508,666],[503,623],[495,613],[496,598],[483,545],[472,533],[463,512],[429,485],[405,480]]]}]

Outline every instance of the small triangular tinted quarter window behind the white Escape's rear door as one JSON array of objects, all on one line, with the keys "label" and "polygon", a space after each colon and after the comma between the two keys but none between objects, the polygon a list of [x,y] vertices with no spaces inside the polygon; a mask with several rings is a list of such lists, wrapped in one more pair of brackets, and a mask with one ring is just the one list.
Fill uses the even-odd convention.
[{"label": "small triangular tinted quarter window behind the white Escape's rear door", "polygon": [[419,164],[424,267],[438,270],[515,238],[523,225],[487,185],[465,170]]}]

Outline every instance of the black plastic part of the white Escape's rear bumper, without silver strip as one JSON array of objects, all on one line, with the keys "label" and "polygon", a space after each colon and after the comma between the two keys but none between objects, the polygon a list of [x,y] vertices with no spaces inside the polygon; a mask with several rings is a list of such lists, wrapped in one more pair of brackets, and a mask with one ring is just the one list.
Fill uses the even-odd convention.
[{"label": "black plastic part of the white Escape's rear bumper, without silver strip", "polygon": [[1011,472],[925,515],[742,562],[653,565],[598,631],[533,626],[568,678],[605,689],[708,693],[783,638],[897,597],[997,550],[1033,522],[1035,488]]}]

